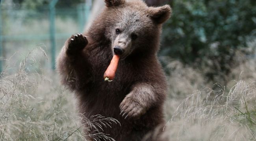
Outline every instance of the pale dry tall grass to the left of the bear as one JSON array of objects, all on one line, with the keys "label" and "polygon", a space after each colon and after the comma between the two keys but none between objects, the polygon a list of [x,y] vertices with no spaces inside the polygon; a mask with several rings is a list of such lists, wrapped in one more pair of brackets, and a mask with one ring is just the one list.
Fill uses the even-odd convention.
[{"label": "pale dry tall grass to the left of the bear", "polygon": [[58,85],[54,74],[40,70],[40,60],[47,59],[41,47],[15,55],[24,59],[19,66],[7,63],[0,78],[0,141],[114,141],[102,127],[119,122],[100,115],[79,116],[72,94]]}]

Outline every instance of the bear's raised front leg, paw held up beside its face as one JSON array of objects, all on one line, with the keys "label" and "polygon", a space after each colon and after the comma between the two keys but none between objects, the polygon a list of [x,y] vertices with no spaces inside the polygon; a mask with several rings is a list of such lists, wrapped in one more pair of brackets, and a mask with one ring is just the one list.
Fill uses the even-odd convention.
[{"label": "bear's raised front leg, paw held up beside its face", "polygon": [[89,63],[85,55],[88,40],[83,34],[72,35],[66,42],[57,59],[57,69],[62,83],[71,90],[83,87],[87,78]]}]

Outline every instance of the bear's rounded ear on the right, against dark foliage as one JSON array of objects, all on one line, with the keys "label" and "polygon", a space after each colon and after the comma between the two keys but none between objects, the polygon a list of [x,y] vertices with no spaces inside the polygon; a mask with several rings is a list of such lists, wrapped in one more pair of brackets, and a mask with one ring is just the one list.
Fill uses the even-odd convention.
[{"label": "bear's rounded ear on the right, against dark foliage", "polygon": [[148,15],[157,24],[162,24],[168,20],[171,16],[172,10],[170,5],[164,5],[162,7],[148,7]]}]

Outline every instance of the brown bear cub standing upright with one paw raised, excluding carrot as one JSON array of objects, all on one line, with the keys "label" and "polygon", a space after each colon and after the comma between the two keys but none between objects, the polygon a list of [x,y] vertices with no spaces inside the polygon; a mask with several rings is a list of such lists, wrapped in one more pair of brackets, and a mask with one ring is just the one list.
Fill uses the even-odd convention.
[{"label": "brown bear cub standing upright with one paw raised, excluding carrot", "polygon": [[[167,81],[157,53],[162,24],[170,16],[169,5],[105,0],[89,29],[72,35],[59,53],[61,82],[75,93],[79,112],[117,119],[121,126],[102,129],[116,141],[141,141],[165,122]],[[114,54],[120,57],[115,78],[104,81]]]}]

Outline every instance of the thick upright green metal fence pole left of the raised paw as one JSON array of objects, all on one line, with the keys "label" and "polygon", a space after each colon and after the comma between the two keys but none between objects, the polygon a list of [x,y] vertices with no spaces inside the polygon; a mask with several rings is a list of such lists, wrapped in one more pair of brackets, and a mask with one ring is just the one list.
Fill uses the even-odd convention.
[{"label": "thick upright green metal fence pole left of the raised paw", "polygon": [[55,54],[56,54],[56,40],[55,40],[55,5],[58,0],[52,0],[49,5],[50,9],[50,41],[51,41],[51,67],[55,69]]}]

